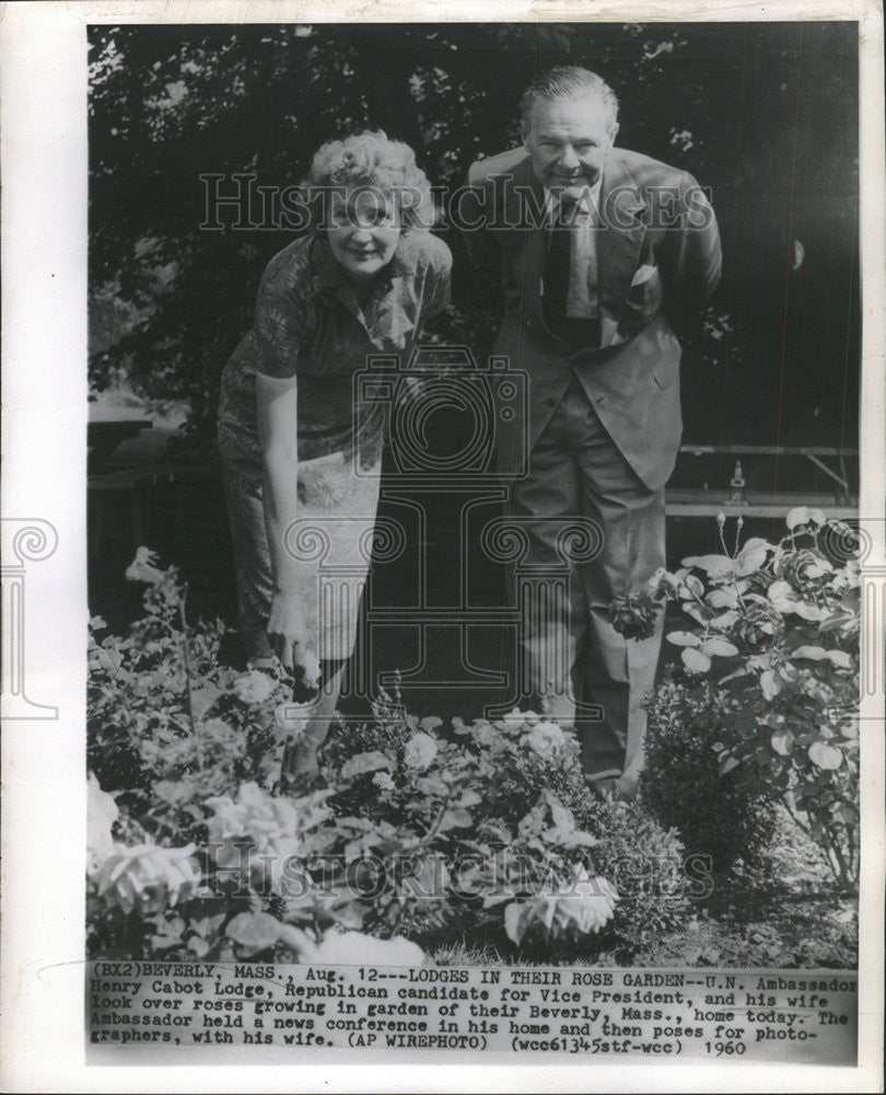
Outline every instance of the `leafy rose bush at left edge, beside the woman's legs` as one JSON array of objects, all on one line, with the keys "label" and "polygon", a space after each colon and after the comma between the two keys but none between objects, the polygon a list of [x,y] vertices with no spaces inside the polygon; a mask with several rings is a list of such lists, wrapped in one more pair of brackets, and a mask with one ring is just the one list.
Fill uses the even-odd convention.
[{"label": "leafy rose bush at left edge, beside the woman's legs", "polygon": [[193,821],[202,797],[275,777],[275,710],[287,681],[270,668],[219,665],[224,625],[188,623],[175,567],[159,569],[139,549],[127,575],[147,583],[144,615],[124,637],[90,621],[86,759],[102,786],[120,791],[121,805],[152,800],[144,822],[153,831],[180,826],[188,810]]}]

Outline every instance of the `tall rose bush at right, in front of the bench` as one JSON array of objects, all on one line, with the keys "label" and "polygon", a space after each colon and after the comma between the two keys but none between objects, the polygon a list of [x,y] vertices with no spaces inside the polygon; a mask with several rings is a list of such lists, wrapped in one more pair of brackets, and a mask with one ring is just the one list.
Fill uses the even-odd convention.
[{"label": "tall rose bush at right, in front of the bench", "polygon": [[[736,537],[730,553],[722,515],[718,523],[722,554],[685,558],[680,569],[660,572],[611,609],[615,626],[629,636],[644,633],[650,613],[668,603],[679,604],[688,621],[665,631],[678,660],[650,699],[646,802],[667,823],[675,820],[668,803],[679,809],[696,796],[700,769],[685,762],[687,734],[695,734],[703,741],[700,763],[714,758],[721,780],[744,781],[743,825],[756,832],[759,819],[748,810],[783,803],[821,845],[839,883],[854,887],[861,615],[855,534],[820,510],[798,507],[788,514],[788,532],[778,543],[751,539],[738,548]],[[679,714],[672,717],[675,703]],[[704,802],[679,820],[681,831],[697,831],[704,820],[699,811],[716,811],[732,794],[728,785],[722,796],[714,788],[701,796]],[[735,843],[733,857],[743,846]]]}]

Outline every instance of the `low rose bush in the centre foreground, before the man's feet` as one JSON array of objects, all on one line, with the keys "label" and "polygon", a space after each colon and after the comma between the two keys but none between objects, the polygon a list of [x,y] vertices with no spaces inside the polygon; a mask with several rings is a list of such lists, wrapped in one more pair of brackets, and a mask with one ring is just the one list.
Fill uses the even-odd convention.
[{"label": "low rose bush in the centre foreground, before the man's feet", "polygon": [[[629,952],[685,921],[693,894],[676,832],[638,807],[594,795],[572,734],[518,711],[496,722],[456,718],[450,729],[383,701],[373,727],[349,729],[347,746],[345,736],[330,744],[327,757],[339,766],[327,779],[339,787],[330,799],[339,811],[425,833],[438,826],[450,890],[436,918],[425,903],[410,908],[400,926],[457,925],[469,936],[488,930],[490,910],[511,899],[498,926],[512,943],[538,946],[547,923],[540,934],[548,955],[568,941],[574,956],[604,946]],[[416,742],[418,772],[409,763]],[[365,751],[348,758],[347,749]],[[604,930],[595,918],[608,908],[613,884],[617,899]],[[576,927],[582,924],[586,931]],[[501,938],[492,942],[506,948]]]}]

